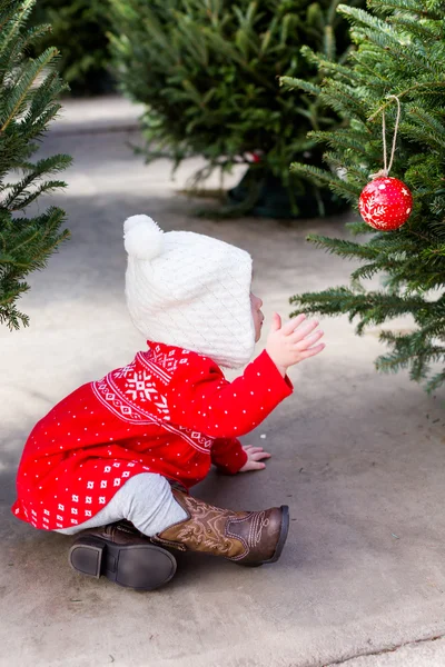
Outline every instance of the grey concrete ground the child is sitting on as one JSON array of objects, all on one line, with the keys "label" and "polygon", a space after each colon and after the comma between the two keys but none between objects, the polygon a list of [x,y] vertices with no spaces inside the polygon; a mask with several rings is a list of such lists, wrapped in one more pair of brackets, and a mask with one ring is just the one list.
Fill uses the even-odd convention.
[{"label": "grey concrete ground the child is sitting on", "polygon": [[68,104],[42,148],[75,158],[68,189],[51,200],[72,237],[30,278],[30,328],[0,329],[1,667],[444,666],[445,391],[428,397],[405,372],[377,375],[378,331],[358,338],[346,318],[323,321],[324,354],[291,369],[293,396],[243,438],[273,452],[267,469],[211,474],[195,490],[235,509],[288,504],[277,564],[186,555],[167,587],[140,594],[76,574],[70,538],[10,514],[36,421],[144,348],[123,301],[126,217],[147,212],[166,230],[251,252],[267,318],[258,352],[290,295],[348,280],[350,263],[305,242],[308,232],[345,235],[345,218],[198,219],[196,201],[178,193],[197,162],[176,182],[166,160],[146,167],[128,146],[139,141],[136,116],[107,99]]}]

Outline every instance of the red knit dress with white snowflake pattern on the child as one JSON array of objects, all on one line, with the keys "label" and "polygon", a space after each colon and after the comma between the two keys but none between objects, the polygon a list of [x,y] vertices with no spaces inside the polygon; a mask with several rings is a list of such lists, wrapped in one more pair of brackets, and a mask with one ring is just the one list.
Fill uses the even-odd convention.
[{"label": "red knit dress with white snowflake pattern on the child", "polygon": [[148,341],[131,364],[79,387],[36,425],[12,511],[36,528],[69,528],[140,472],[187,488],[211,462],[235,474],[247,460],[237,437],[291,391],[266,351],[228,382],[208,357]]}]

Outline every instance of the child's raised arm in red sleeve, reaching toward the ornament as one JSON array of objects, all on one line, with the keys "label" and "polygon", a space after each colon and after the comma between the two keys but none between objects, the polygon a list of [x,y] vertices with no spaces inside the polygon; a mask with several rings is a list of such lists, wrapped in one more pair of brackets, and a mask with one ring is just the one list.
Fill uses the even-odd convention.
[{"label": "child's raised arm in red sleeve, reaching toward the ornament", "polygon": [[214,438],[237,438],[253,430],[293,392],[287,368],[324,349],[314,346],[317,321],[300,315],[281,327],[274,316],[266,349],[233,382],[210,359],[194,355],[177,369],[168,404],[172,422]]}]

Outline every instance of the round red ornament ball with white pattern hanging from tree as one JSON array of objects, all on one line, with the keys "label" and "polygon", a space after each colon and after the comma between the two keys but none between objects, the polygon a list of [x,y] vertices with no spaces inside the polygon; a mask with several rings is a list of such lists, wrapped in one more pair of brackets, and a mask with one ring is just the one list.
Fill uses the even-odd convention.
[{"label": "round red ornament ball with white pattern hanging from tree", "polygon": [[379,231],[398,229],[413,210],[413,195],[397,178],[377,177],[362,190],[358,201],[362,218]]}]

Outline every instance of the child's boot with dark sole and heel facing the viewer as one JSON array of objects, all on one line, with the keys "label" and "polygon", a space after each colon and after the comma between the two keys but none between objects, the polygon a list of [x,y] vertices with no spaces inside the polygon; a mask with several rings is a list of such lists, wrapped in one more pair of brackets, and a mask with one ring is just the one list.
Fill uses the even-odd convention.
[{"label": "child's boot with dark sole and heel facing the viewer", "polygon": [[138,590],[159,588],[176,573],[175,557],[125,520],[79,534],[70,548],[69,564],[83,575],[103,575]]}]

